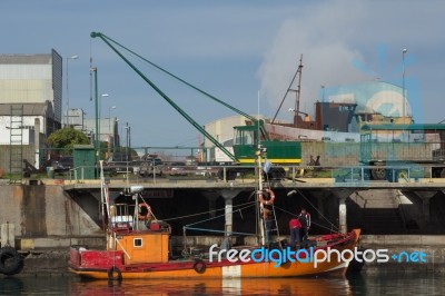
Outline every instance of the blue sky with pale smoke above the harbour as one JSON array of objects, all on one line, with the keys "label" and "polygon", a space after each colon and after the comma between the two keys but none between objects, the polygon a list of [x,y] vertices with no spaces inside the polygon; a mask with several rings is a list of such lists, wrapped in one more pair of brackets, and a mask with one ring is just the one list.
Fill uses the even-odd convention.
[{"label": "blue sky with pale smoke above the harbour", "polygon": [[[380,79],[407,83],[416,122],[445,119],[445,1],[3,0],[0,53],[63,57],[69,107],[93,118],[90,67],[101,116],[131,126],[134,147],[198,146],[199,132],[102,40],[99,31],[191,85],[256,115],[274,117],[303,55],[300,109],[314,112],[322,86]],[[403,49],[407,49],[403,56]],[[67,60],[77,55],[77,60]],[[204,126],[236,115],[152,67],[136,63]],[[409,96],[409,93],[417,93]],[[63,85],[63,110],[67,108]],[[110,107],[116,106],[116,109]],[[287,97],[279,119],[295,98]],[[110,111],[111,110],[111,111]],[[122,129],[120,129],[122,134]]]}]

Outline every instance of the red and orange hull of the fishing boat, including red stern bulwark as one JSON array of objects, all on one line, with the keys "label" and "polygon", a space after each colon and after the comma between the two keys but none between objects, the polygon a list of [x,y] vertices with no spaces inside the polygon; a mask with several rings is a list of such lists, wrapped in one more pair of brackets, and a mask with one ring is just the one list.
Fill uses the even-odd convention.
[{"label": "red and orange hull of the fishing boat, including red stern bulwark", "polygon": [[[359,230],[353,230],[344,239],[333,245],[299,250],[291,256],[283,256],[278,260],[278,254],[269,257],[270,260],[258,258],[258,262],[234,262],[227,258],[217,259],[189,259],[169,260],[166,263],[122,264],[116,251],[107,250],[70,250],[70,270],[81,277],[93,279],[155,279],[155,278],[278,278],[303,277],[313,275],[342,276],[346,273],[349,260],[332,259],[322,260],[322,254],[317,250],[348,249],[354,251],[359,238]],[[86,254],[90,256],[85,256]],[[125,254],[122,257],[125,258]],[[85,258],[82,258],[85,257]],[[118,259],[116,259],[118,258]],[[314,258],[318,258],[315,266]],[[261,260],[260,260],[261,259]],[[259,262],[260,260],[260,262]]]}]

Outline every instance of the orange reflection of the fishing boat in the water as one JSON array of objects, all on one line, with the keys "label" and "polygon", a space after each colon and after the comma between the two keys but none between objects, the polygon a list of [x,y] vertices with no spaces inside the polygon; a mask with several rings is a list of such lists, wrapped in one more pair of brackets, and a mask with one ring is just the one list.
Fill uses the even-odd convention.
[{"label": "orange reflection of the fishing boat in the water", "polygon": [[71,295],[352,295],[347,279],[107,280],[71,283]]}]

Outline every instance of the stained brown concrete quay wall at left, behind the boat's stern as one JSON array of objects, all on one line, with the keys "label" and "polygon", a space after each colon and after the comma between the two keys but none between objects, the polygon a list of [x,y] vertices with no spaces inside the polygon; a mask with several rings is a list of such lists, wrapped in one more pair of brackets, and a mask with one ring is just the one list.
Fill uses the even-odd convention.
[{"label": "stained brown concrete quay wall at left, behind the boat's stern", "polygon": [[100,233],[98,223],[85,208],[82,201],[68,196],[61,186],[0,186],[0,225],[13,224],[16,237],[71,237]]}]

